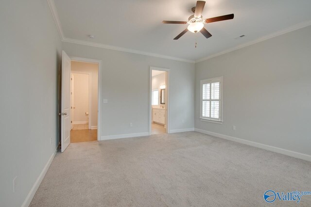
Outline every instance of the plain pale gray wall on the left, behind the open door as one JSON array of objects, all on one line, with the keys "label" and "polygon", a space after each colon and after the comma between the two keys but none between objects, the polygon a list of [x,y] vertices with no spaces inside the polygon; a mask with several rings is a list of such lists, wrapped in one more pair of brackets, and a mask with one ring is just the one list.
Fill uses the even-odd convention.
[{"label": "plain pale gray wall on the left, behind the open door", "polygon": [[0,28],[0,206],[20,207],[59,142],[61,40],[46,0],[1,0]]}]

